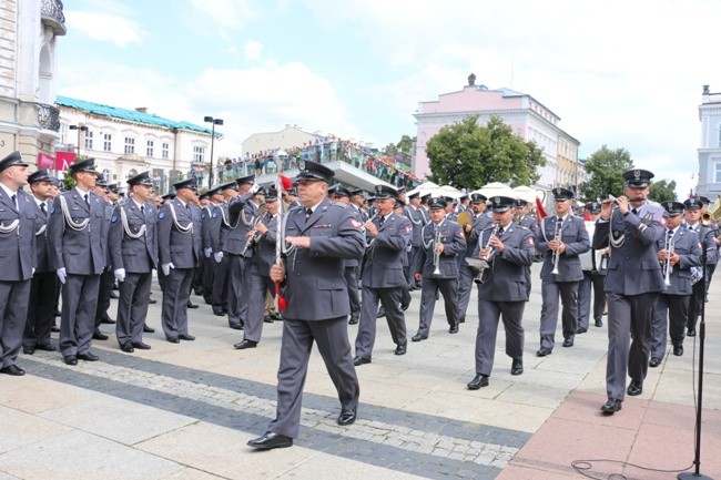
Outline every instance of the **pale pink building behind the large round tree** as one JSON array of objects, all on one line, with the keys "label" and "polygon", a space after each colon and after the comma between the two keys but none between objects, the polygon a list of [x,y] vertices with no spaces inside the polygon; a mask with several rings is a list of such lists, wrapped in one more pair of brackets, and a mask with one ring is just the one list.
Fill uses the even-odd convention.
[{"label": "pale pink building behind the large round tree", "polygon": [[528,94],[509,89],[488,90],[485,85],[475,84],[468,84],[459,92],[444,93],[438,100],[418,103],[418,111],[414,115],[417,124],[416,175],[423,178],[430,174],[426,144],[441,127],[469,115],[479,115],[478,123],[485,125],[494,114],[500,116],[518,136],[535,141],[542,149],[546,166],[539,171],[539,185],[578,185],[580,143],[558,126],[558,115]]}]

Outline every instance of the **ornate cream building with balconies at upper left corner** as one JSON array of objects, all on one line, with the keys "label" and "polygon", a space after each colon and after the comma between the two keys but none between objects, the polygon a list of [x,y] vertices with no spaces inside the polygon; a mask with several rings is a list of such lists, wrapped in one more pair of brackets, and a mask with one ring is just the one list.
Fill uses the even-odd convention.
[{"label": "ornate cream building with balconies at upper left corner", "polygon": [[35,164],[60,137],[54,74],[61,0],[0,2],[0,157],[19,150]]}]

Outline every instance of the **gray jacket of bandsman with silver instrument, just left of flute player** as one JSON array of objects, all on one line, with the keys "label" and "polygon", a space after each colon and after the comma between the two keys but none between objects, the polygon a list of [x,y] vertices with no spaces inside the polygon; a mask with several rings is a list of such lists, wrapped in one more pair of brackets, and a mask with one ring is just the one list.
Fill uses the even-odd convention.
[{"label": "gray jacket of bandsman with silver instrument, just left of flute player", "polygon": [[561,224],[561,242],[566,244],[566,252],[558,256],[558,275],[554,275],[554,252],[548,249],[548,243],[554,239],[556,233],[556,216],[547,216],[542,219],[536,245],[539,252],[544,253],[544,266],[541,267],[541,280],[544,282],[578,282],[583,279],[580,254],[588,252],[591,244],[586,232],[583,219],[566,215]]}]

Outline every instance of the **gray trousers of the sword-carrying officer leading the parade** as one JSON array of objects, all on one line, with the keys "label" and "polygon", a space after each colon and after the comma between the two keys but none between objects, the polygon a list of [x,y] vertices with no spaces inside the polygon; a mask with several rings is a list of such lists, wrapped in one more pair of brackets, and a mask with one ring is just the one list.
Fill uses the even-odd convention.
[{"label": "gray trousers of the sword-carrying officer leading the parade", "polygon": [[308,371],[313,340],[318,344],[331,380],[338,391],[342,410],[358,406],[358,377],[351,357],[347,316],[328,320],[284,318],[278,368],[277,410],[268,431],[291,438],[298,437],[303,385]]}]

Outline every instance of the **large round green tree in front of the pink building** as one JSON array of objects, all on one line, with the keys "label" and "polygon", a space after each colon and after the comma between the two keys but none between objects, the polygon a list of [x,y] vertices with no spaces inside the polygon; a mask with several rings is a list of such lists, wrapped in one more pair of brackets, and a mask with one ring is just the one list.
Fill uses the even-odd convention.
[{"label": "large round green tree in front of the pink building", "polygon": [[490,182],[515,186],[538,181],[537,167],[546,161],[536,143],[525,142],[498,115],[485,126],[477,122],[478,115],[468,116],[428,141],[434,182],[475,190]]}]

